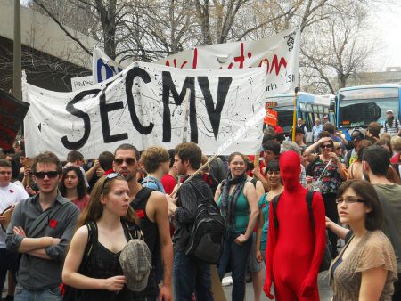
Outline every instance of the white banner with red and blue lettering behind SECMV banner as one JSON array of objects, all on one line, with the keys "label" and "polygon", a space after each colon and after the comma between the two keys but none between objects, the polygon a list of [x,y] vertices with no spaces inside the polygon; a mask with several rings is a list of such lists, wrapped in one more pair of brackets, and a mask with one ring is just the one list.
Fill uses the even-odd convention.
[{"label": "white banner with red and blue lettering behind SECMV banner", "polygon": [[[273,37],[184,50],[156,61],[179,69],[266,69],[266,93],[287,93],[299,83],[299,29],[290,28]],[[110,61],[110,63],[108,63]],[[94,51],[94,82],[102,82],[122,68],[101,50]]]}]

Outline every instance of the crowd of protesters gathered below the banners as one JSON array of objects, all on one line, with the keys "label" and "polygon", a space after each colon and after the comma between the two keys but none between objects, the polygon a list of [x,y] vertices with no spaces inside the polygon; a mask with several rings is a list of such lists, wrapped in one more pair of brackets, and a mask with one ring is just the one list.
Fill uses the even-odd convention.
[{"label": "crowd of protesters gathered below the banners", "polygon": [[294,142],[268,127],[257,156],[210,162],[193,142],[126,143],[89,160],[71,150],[65,161],[28,158],[15,142],[0,153],[5,299],[214,300],[210,264],[188,252],[210,200],[225,224],[217,274],[231,273],[232,300],[244,300],[247,273],[255,301],[263,290],[319,300],[322,270],[333,300],[401,300],[401,128],[372,123],[348,141],[315,121],[311,143],[300,119]]}]

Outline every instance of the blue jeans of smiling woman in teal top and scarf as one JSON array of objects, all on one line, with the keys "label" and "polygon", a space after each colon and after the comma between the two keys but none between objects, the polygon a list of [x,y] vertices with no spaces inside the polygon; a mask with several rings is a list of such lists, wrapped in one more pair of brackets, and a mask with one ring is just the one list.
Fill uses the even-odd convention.
[{"label": "blue jeans of smiling woman in teal top and scarf", "polygon": [[245,299],[245,273],[247,271],[247,259],[252,247],[252,236],[237,245],[234,240],[243,232],[228,232],[225,236],[223,254],[217,267],[220,280],[225,276],[225,269],[228,264],[231,265],[231,276],[233,277],[233,301],[243,301]]}]

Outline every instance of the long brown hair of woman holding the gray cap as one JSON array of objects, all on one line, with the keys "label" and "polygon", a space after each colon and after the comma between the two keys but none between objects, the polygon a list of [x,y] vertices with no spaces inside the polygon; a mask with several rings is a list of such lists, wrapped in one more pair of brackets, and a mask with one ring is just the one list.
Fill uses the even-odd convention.
[{"label": "long brown hair of woman holding the gray cap", "polygon": [[[127,179],[122,175],[117,175],[112,179],[108,179],[107,176],[103,175],[94,185],[89,201],[78,217],[77,229],[88,222],[96,223],[102,217],[103,206],[100,202],[101,196],[109,194],[115,181],[127,182]],[[122,216],[121,219],[128,223],[137,224],[136,214],[131,206],[128,207],[127,215]]]}]

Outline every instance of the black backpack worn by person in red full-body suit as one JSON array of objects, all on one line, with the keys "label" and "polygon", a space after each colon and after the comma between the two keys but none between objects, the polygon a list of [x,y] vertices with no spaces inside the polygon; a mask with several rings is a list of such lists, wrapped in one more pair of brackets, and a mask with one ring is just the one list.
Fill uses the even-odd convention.
[{"label": "black backpack worn by person in red full-body suit", "polygon": [[[315,230],[315,216],[314,216],[314,210],[312,209],[312,200],[314,199],[314,192],[315,191],[307,191],[307,212],[309,213],[309,220],[313,230]],[[277,220],[276,210],[281,196],[282,194],[280,193],[279,195],[276,195],[272,199],[275,230],[278,230],[278,220]],[[329,240],[328,232],[326,230],[326,247],[324,248],[324,256],[322,259],[322,264],[320,264],[319,272],[328,270],[330,268],[330,264],[331,264],[331,243]]]}]

